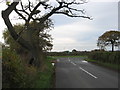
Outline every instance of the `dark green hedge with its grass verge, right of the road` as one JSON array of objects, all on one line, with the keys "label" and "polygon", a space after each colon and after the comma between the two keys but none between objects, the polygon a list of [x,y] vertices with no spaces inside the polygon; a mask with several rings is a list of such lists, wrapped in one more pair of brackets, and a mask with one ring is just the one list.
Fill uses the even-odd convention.
[{"label": "dark green hedge with its grass verge, right of the road", "polygon": [[120,70],[120,52],[92,51],[88,58],[89,62],[96,63],[114,70]]}]

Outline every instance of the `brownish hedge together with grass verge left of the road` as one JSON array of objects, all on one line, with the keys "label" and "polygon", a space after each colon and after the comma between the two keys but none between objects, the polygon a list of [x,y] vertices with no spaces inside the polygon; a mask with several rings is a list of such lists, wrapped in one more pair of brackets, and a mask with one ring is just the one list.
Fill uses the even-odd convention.
[{"label": "brownish hedge together with grass verge left of the road", "polygon": [[46,57],[42,70],[22,62],[20,56],[7,47],[2,50],[3,88],[53,88],[54,67]]}]

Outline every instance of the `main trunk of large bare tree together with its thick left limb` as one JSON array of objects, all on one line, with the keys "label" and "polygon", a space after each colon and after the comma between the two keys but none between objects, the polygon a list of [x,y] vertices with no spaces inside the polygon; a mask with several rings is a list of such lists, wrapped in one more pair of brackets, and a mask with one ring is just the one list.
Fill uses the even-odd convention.
[{"label": "main trunk of large bare tree together with its thick left limb", "polygon": [[[38,42],[39,33],[37,37],[34,38],[35,30],[31,30],[31,28],[27,28],[26,34],[28,35],[28,39],[25,40],[15,32],[14,27],[10,22],[9,15],[13,10],[15,10],[18,3],[19,2],[13,2],[6,10],[2,11],[2,18],[4,19],[4,22],[8,27],[10,35],[13,37],[13,39],[31,53],[31,58],[34,58],[33,64],[36,67],[41,67],[43,65],[44,58],[43,58],[42,48],[39,46],[39,42]],[[34,42],[36,40],[37,40],[37,43]]]}]

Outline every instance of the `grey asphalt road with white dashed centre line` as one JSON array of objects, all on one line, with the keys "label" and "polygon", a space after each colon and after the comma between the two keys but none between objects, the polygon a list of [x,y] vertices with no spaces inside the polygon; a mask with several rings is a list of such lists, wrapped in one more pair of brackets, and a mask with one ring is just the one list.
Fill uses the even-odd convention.
[{"label": "grey asphalt road with white dashed centre line", "polygon": [[82,57],[61,57],[56,63],[56,88],[118,88],[118,72]]}]

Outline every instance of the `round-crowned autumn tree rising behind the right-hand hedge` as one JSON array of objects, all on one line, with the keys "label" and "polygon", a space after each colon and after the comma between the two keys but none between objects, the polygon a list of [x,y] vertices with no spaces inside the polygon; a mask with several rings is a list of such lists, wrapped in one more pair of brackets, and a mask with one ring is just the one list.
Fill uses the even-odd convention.
[{"label": "round-crowned autumn tree rising behind the right-hand hedge", "polygon": [[105,46],[112,45],[112,51],[115,46],[120,46],[120,31],[107,31],[98,38],[97,46],[105,49]]}]

